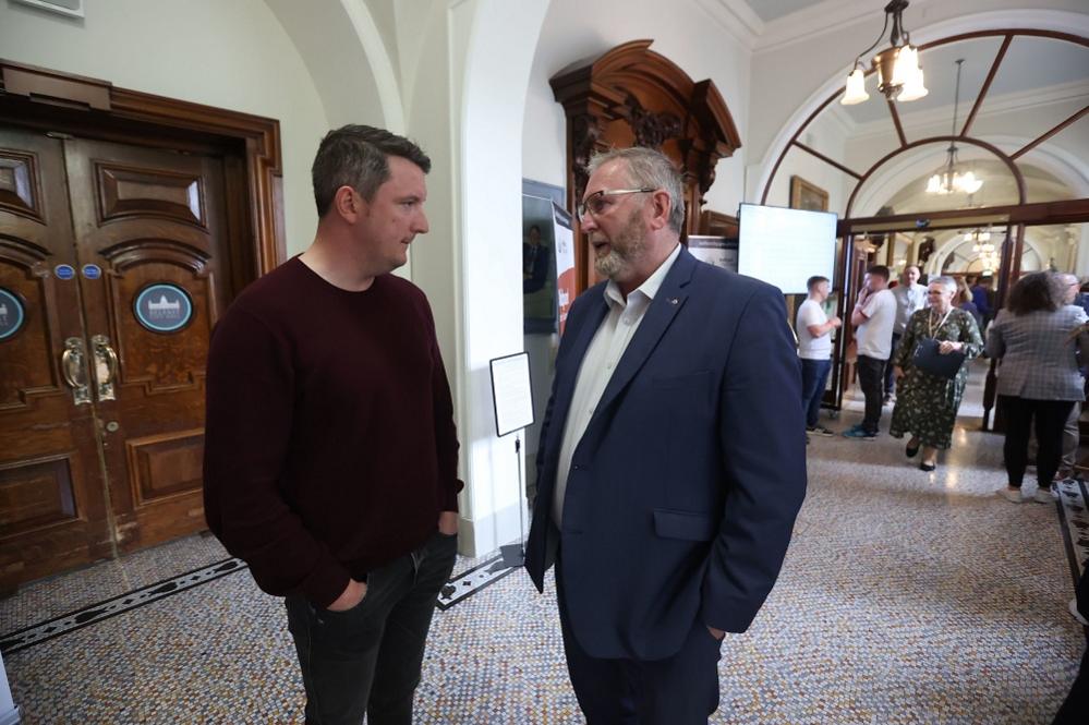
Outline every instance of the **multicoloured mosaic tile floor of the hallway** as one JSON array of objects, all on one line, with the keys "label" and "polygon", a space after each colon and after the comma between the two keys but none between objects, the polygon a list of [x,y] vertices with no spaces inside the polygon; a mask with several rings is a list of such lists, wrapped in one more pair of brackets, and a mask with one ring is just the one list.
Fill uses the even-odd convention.
[{"label": "multicoloured mosaic tile floor of the hallway", "polygon": [[[859,418],[850,401],[830,426]],[[1086,642],[1066,612],[1063,530],[1079,529],[1057,505],[994,496],[1004,484],[1001,438],[963,423],[933,473],[908,463],[904,442],[887,435],[814,439],[783,575],[750,631],[724,645],[722,708],[711,722],[1050,723]],[[1064,491],[1067,515],[1072,506],[1084,513],[1084,487]],[[0,633],[225,556],[213,540],[191,539],[39,582],[0,602]],[[460,560],[458,572],[486,560]],[[32,725],[302,722],[283,621],[280,601],[240,571],[4,664]],[[541,596],[516,571],[436,613],[415,720],[582,722],[550,580]]]}]

